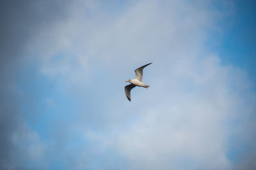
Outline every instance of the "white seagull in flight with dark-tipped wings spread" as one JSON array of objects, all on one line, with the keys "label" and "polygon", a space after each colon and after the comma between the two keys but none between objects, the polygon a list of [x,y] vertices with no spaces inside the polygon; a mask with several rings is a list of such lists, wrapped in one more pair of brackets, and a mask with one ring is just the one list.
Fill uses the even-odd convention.
[{"label": "white seagull in flight with dark-tipped wings spread", "polygon": [[135,78],[125,81],[125,82],[130,82],[131,83],[131,84],[124,87],[126,97],[129,101],[131,101],[131,90],[134,87],[139,86],[139,87],[145,87],[146,89],[149,87],[149,85],[146,85],[142,82],[143,68],[147,67],[149,64],[152,64],[152,62],[150,62],[150,63],[148,63],[144,66],[138,67],[138,69],[134,70],[135,74],[136,74]]}]

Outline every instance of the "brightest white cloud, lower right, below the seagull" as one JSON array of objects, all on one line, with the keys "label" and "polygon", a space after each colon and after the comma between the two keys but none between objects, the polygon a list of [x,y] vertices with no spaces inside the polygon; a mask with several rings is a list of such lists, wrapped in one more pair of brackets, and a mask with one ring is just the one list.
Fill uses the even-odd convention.
[{"label": "brightest white cloud, lower right, below the seagull", "polygon": [[[226,142],[232,132],[228,121],[241,116],[235,106],[252,106],[241,106],[241,101],[236,100],[241,96],[230,90],[236,81],[230,81],[230,77],[239,70],[220,66],[216,59],[205,57],[195,65],[186,65],[189,72],[182,81],[175,82],[175,76],[170,74],[164,76],[168,80],[155,82],[154,87],[159,89],[153,90],[157,97],[154,105],[148,104],[141,118],[118,138],[118,150],[131,159],[131,169],[233,168],[227,157]],[[175,93],[168,90],[172,88],[170,80],[179,84],[179,89],[173,89]],[[162,84],[168,87],[161,87]],[[149,103],[149,95],[145,97],[144,102]]]}]

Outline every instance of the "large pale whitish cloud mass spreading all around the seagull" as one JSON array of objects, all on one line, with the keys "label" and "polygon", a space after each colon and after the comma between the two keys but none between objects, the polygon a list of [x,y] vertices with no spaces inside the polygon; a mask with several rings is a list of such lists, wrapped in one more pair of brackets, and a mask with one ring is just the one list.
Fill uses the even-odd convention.
[{"label": "large pale whitish cloud mass spreading all around the seagull", "polygon": [[[88,159],[92,152],[97,157],[109,148],[127,160],[129,169],[233,168],[227,141],[231,134],[240,134],[228,127],[228,121],[243,118],[243,111],[252,115],[255,108],[247,103],[252,97],[246,94],[250,83],[245,73],[222,66],[218,55],[204,50],[207,33],[218,28],[216,18],[221,15],[208,5],[140,1],[110,14],[100,3],[90,8],[74,4],[67,20],[41,32],[39,37],[49,42],[42,48],[42,73],[60,74],[61,83],[72,92],[81,90],[77,86],[86,90],[90,80],[95,89],[89,90],[95,90],[95,96],[108,96],[108,101],[97,103],[104,110],[98,115],[103,132],[81,128],[95,149],[83,148],[81,157]],[[134,76],[132,67],[146,62],[154,62],[145,70],[150,89],[132,90],[132,103],[127,103],[123,87],[97,94],[100,87],[111,87],[99,77],[124,81]],[[81,112],[89,114],[86,111]],[[246,122],[241,124],[244,130]],[[86,167],[89,163],[83,164],[81,157],[74,161]]]}]

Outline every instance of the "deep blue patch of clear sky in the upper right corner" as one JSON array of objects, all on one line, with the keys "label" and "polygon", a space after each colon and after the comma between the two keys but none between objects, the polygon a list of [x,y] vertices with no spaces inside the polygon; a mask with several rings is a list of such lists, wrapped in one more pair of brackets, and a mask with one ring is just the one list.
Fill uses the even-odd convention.
[{"label": "deep blue patch of clear sky in the upper right corner", "polygon": [[[255,3],[234,1],[234,13],[223,24],[220,55],[223,63],[232,63],[248,72],[255,82]],[[241,57],[243,55],[243,57]]]}]

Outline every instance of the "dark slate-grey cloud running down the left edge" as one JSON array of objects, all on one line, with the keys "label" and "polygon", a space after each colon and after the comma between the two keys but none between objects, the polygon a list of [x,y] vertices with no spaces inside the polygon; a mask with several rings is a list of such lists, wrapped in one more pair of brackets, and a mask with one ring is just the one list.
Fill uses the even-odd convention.
[{"label": "dark slate-grey cloud running down the left edge", "polygon": [[[20,89],[17,78],[23,69],[26,45],[51,22],[62,20],[67,14],[65,1],[0,1],[0,168],[24,166],[19,159],[26,153],[17,152],[13,134],[23,129],[20,116]],[[25,134],[31,133],[25,131]],[[26,136],[23,134],[22,136]],[[21,136],[20,136],[21,138]],[[20,142],[28,142],[23,139]],[[23,164],[23,165],[22,165]]]}]

